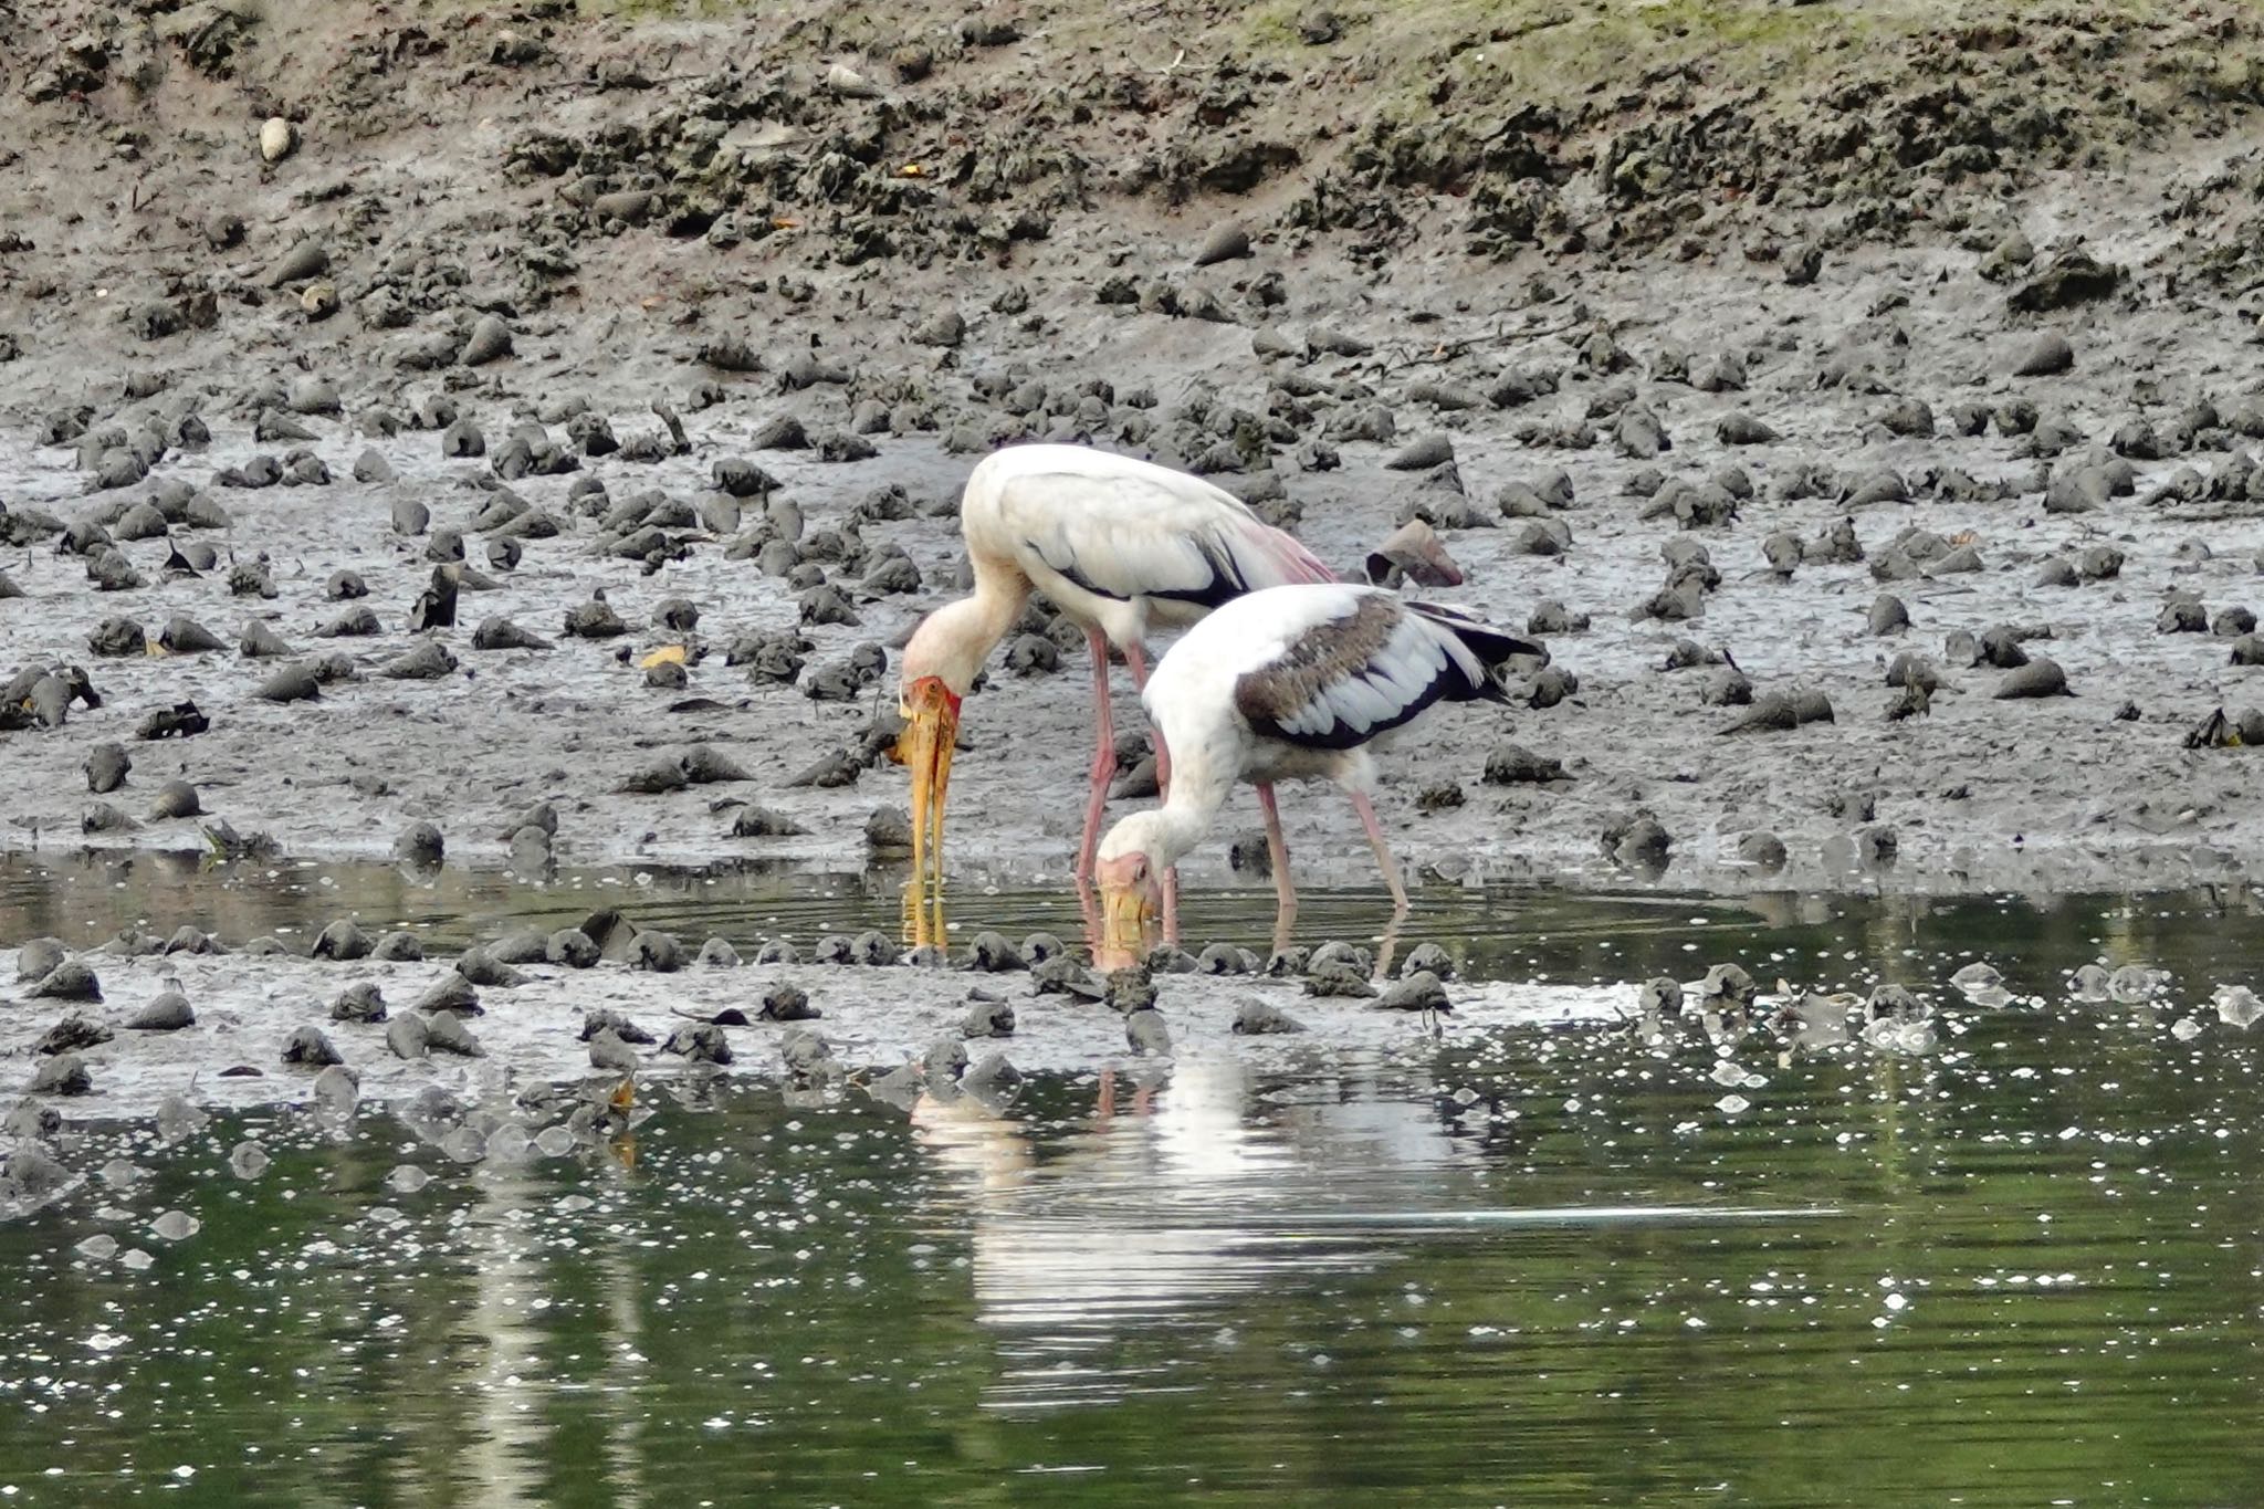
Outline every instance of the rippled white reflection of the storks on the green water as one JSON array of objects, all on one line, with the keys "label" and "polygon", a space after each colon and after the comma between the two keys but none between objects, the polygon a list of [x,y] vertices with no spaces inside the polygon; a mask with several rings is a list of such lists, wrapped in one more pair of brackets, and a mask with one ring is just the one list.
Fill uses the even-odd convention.
[{"label": "rippled white reflection of the storks on the green water", "polygon": [[[1358,1215],[1429,1206],[1456,1188],[1453,1167],[1476,1165],[1420,1070],[1408,1084],[1352,1075],[1340,1095],[1293,1106],[1259,1104],[1261,1088],[1238,1059],[1182,1059],[1141,1109],[1073,1118],[1069,1136],[964,1097],[912,1109],[917,1145],[946,1174],[921,1199],[967,1233],[974,1317],[1003,1342],[987,1405],[1152,1389],[1155,1364],[1125,1360],[1125,1337],[1372,1271],[1399,1242]],[[1320,1208],[1354,1219],[1315,1226]],[[1170,1366],[1200,1371],[1200,1355]]]}]

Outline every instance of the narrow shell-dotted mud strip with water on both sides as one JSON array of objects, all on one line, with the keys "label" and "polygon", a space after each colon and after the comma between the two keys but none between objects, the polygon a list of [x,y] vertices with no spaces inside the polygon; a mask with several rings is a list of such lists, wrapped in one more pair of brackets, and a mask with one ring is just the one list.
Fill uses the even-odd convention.
[{"label": "narrow shell-dotted mud strip with water on both sides", "polygon": [[[104,1004],[72,1011],[88,1023],[115,1027],[104,1043],[79,1047],[91,1079],[86,1095],[43,1095],[70,1118],[149,1115],[168,1095],[197,1104],[317,1104],[315,1079],[324,1063],[285,1063],[281,1052],[294,1032],[317,1029],[353,1070],[360,1097],[408,1102],[430,1086],[464,1100],[509,1100],[530,1086],[573,1086],[607,1079],[593,1068],[591,1043],[582,1036],[589,1014],[609,1011],[627,1023],[627,1059],[641,1081],[670,1084],[718,1072],[767,1081],[795,1081],[788,1038],[811,1032],[824,1038],[833,1068],[801,1084],[840,1093],[856,1079],[878,1081],[906,1063],[921,1063],[937,1043],[962,1045],[969,1061],[998,1052],[1017,1072],[1082,1075],[1096,1068],[1134,1068],[1175,1057],[1234,1057],[1250,1063],[1311,1063],[1315,1057],[1372,1057],[1429,1052],[1431,1025],[1410,1011],[1379,1009],[1377,1000],[1313,998],[1300,980],[1170,975],[1159,982],[1155,1016],[1161,1052],[1134,1052],[1125,1016],[1105,1002],[1073,993],[1037,993],[1028,973],[969,975],[960,971],[856,968],[856,966],[745,966],[693,968],[666,977],[620,964],[589,971],[518,966],[523,982],[509,989],[475,989],[482,1014],[460,1016],[478,1057],[428,1045],[403,1057],[389,1043],[389,1027],[412,1018],[428,1023],[446,1011],[419,1011],[435,986],[457,989],[451,962],[335,964],[292,957],[172,955],[163,959],[111,959],[88,955],[102,977]],[[14,975],[14,955],[0,964]],[[168,980],[192,1002],[195,1025],[179,1032],[134,1032],[125,1023],[145,1000],[161,995]],[[380,1023],[335,1020],[333,1000],[349,989],[376,989],[387,1007]],[[765,995],[799,991],[817,1011],[808,1020],[763,1020]],[[20,995],[23,991],[14,991]],[[974,998],[971,998],[974,993]],[[1619,1020],[1630,1000],[1623,991],[1573,986],[1456,984],[1451,1032],[1485,1032],[1506,1025],[1551,1025]],[[1236,1020],[1257,1002],[1275,1032],[1245,1034]],[[54,1027],[54,1011],[7,1011],[0,1025],[0,1063],[27,1079],[45,1054],[34,1043]],[[967,1036],[971,1011],[980,1009],[992,1032]],[[697,1057],[666,1052],[679,1029],[711,1023],[722,1011],[749,1020],[711,1029],[727,1045],[722,1063],[709,1061],[713,1041]],[[1297,1029],[1279,1027],[1288,1016]],[[1252,1018],[1245,1018],[1252,1020]],[[623,1032],[627,1032],[627,1027]],[[412,1029],[412,1036],[414,1034]],[[650,1041],[645,1041],[650,1036]],[[967,1068],[964,1063],[960,1068]],[[937,1070],[946,1079],[955,1072]],[[607,1084],[620,1079],[611,1070]],[[11,1086],[20,1090],[23,1086]],[[885,1088],[885,1086],[883,1086]],[[919,1088],[915,1075],[912,1093]],[[1012,1097],[1012,1081],[1001,1090]],[[14,1102],[11,1102],[14,1104]]]}]

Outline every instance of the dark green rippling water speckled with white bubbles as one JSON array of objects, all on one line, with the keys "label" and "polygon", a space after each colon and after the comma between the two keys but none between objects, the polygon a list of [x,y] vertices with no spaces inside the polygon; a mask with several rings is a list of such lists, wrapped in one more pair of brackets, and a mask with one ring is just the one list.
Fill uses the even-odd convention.
[{"label": "dark green rippling water speckled with white bubbles", "polygon": [[[158,916],[233,885],[249,916],[288,891],[113,878],[63,905],[79,882],[0,876],[9,943],[34,889],[61,907],[38,930],[79,932],[93,896]],[[677,880],[648,912],[711,905]],[[446,885],[401,916],[586,905]],[[749,896],[715,905],[763,930]],[[2169,1029],[2253,980],[2244,898],[1467,905],[1501,919],[1476,957],[1562,980],[1938,982],[1988,955],[2040,993],[2092,957],[2178,986],[1945,989],[1927,1057],[1752,1038],[1741,1113],[1669,1072],[1705,1043],[1592,1025],[1037,1079],[1005,1113],[724,1079],[654,1095],[634,1147],[516,1165],[385,1113],[174,1147],[95,1122],[66,1163],[143,1176],[0,1226],[0,1502],[2264,1500],[2264,1025]],[[247,1138],[256,1179],[229,1167]],[[168,1210],[201,1228],[154,1235]],[[118,1256],[79,1256],[104,1233]]]}]

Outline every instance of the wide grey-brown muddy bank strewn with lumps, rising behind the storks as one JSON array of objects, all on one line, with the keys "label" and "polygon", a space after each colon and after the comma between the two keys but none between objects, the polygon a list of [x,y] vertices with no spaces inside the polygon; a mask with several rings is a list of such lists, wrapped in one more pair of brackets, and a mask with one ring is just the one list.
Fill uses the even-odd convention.
[{"label": "wide grey-brown muddy bank strewn with lumps, rising behind the storks", "polygon": [[[887,645],[955,581],[960,482],[1075,439],[1214,475],[1347,570],[1429,518],[1449,595],[1551,645],[1517,708],[1438,710],[1386,756],[1379,810],[1431,885],[2250,873],[2264,396],[2214,251],[2257,172],[2244,18],[2069,11],[1945,48],[1897,14],[1736,95],[1736,57],[1816,41],[1755,25],[1487,136],[1501,81],[1463,72],[1587,54],[1555,27],[1417,38],[1456,86],[1415,131],[1383,122],[1422,72],[1386,43],[1447,27],[1422,7],[1204,20],[1243,63],[1184,72],[1080,16],[11,23],[38,79],[84,77],[27,81],[52,204],[18,206],[0,281],[0,667],[29,667],[5,842],[226,821],[376,855],[428,824],[537,878],[863,860],[901,801],[869,733]],[[283,41],[355,66],[315,77]],[[1075,88],[1035,88],[1087,43]],[[2081,104],[2096,68],[2130,111]],[[1377,122],[1320,81],[1365,81]],[[131,100],[172,136],[120,136]],[[439,109],[466,100],[471,127]],[[1533,235],[1503,228],[1510,183],[1544,197]],[[487,581],[435,624],[460,552]],[[568,636],[600,588],[620,633]],[[955,771],[969,894],[1071,864],[1089,688],[1062,624],[1026,627]],[[217,647],[145,654],[199,631]],[[648,672],[672,647],[684,674]],[[41,690],[68,665],[100,706]],[[136,738],[181,701],[204,731]],[[557,833],[514,848],[543,801]],[[1333,794],[1286,808],[1302,878],[1367,880]]]}]

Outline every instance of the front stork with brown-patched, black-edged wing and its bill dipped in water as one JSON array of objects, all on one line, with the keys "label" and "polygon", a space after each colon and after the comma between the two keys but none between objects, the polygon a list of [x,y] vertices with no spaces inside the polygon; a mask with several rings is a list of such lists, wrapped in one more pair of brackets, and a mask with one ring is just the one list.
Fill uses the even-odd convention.
[{"label": "front stork with brown-patched, black-edged wing and its bill dipped in water", "polygon": [[1433,701],[1508,701],[1499,672],[1512,656],[1549,661],[1544,647],[1458,609],[1352,584],[1250,593],[1189,629],[1141,697],[1173,749],[1170,790],[1161,808],[1125,817],[1100,842],[1103,968],[1146,950],[1159,907],[1164,937],[1177,941],[1161,878],[1202,842],[1236,781],[1259,787],[1281,930],[1297,891],[1277,781],[1345,787],[1392,889],[1392,916],[1404,916],[1406,887],[1367,803],[1377,774],[1367,749]]}]

